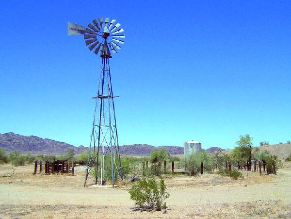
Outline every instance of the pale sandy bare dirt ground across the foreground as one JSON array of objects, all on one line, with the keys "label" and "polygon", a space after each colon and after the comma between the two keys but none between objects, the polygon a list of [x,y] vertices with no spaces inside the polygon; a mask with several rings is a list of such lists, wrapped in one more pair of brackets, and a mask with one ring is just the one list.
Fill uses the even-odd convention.
[{"label": "pale sandy bare dirt ground across the foreground", "polygon": [[[10,174],[0,166],[0,176]],[[134,210],[128,186],[83,188],[84,173],[32,175],[33,167],[15,167],[0,177],[0,218],[291,218],[291,165],[278,175],[242,171],[244,179],[216,174],[165,179],[169,209]],[[90,179],[92,182],[93,179]],[[89,183],[90,183],[89,181]]]}]

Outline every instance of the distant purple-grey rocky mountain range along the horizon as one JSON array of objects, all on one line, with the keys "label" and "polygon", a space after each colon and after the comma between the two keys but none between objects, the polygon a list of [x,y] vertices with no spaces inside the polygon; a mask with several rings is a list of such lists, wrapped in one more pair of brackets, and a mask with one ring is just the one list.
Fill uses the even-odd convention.
[{"label": "distant purple-grey rocky mountain range along the horizon", "polygon": [[[75,154],[80,154],[88,148],[84,146],[75,147],[65,142],[59,142],[48,138],[37,136],[24,136],[14,133],[0,134],[0,148],[5,148],[6,152],[20,151],[22,153],[31,152],[33,154],[64,154],[70,148]],[[183,154],[183,147],[179,146],[159,146],[155,147],[147,144],[122,145],[119,147],[121,155],[147,156],[153,150],[165,148],[170,154]],[[213,152],[220,148],[212,147],[207,151]]]}]

